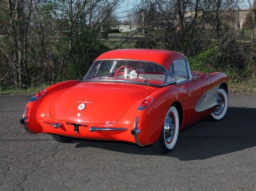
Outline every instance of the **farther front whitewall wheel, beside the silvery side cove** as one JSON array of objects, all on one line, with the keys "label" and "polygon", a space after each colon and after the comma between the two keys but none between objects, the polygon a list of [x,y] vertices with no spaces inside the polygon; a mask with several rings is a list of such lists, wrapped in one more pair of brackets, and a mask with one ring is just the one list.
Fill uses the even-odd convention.
[{"label": "farther front whitewall wheel, beside the silvery side cove", "polygon": [[217,106],[216,109],[212,112],[211,116],[216,121],[221,120],[226,115],[228,108],[228,96],[227,90],[223,87],[220,87],[217,91]]}]

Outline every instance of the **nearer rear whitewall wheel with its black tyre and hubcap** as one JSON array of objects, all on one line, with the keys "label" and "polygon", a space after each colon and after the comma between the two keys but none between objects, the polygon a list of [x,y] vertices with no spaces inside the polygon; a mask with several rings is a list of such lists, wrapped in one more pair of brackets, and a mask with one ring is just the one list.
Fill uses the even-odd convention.
[{"label": "nearer rear whitewall wheel with its black tyre and hubcap", "polygon": [[167,111],[164,127],[157,142],[152,145],[154,152],[168,153],[176,145],[179,135],[179,114],[176,107],[171,106]]}]

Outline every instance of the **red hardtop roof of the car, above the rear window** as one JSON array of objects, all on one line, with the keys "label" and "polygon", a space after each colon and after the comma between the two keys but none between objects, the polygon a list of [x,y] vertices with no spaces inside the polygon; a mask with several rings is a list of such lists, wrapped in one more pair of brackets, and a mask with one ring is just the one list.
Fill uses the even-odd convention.
[{"label": "red hardtop roof of the car, above the rear window", "polygon": [[159,65],[164,66],[168,70],[173,61],[182,58],[186,58],[186,56],[175,51],[158,49],[116,49],[103,53],[96,60],[142,60],[159,63]]}]

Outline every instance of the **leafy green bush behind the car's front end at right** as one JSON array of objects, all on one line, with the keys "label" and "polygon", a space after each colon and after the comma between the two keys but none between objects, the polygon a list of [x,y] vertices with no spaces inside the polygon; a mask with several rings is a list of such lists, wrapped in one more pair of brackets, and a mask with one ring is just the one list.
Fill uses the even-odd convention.
[{"label": "leafy green bush behind the car's front end at right", "polygon": [[215,45],[207,51],[188,58],[191,70],[200,72],[224,72],[232,83],[246,81],[252,78],[253,59],[246,60],[246,56],[231,46]]}]

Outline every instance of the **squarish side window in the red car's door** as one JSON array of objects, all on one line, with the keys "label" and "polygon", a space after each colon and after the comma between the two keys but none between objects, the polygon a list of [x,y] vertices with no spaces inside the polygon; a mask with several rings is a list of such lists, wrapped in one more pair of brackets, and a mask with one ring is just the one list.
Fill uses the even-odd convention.
[{"label": "squarish side window in the red car's door", "polygon": [[180,83],[188,80],[188,72],[185,59],[176,60],[173,62],[174,73],[176,76],[176,82]]}]

